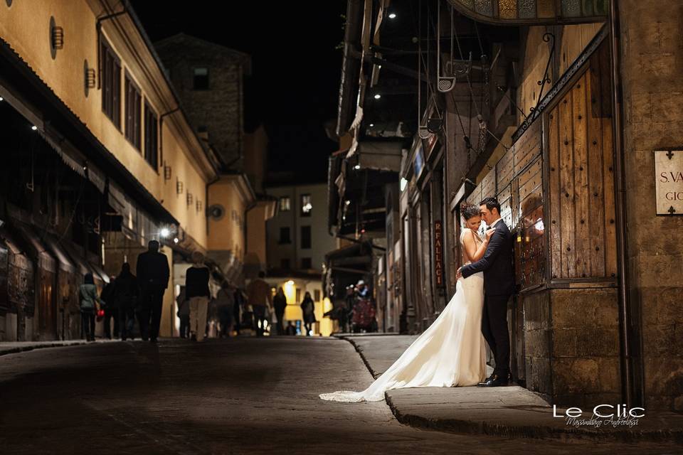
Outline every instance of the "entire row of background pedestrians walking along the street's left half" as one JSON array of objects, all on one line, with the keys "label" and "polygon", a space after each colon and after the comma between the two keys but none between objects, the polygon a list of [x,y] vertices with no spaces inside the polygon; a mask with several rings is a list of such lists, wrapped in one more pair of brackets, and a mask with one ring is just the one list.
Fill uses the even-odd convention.
[{"label": "entire row of background pedestrians walking along the street's left half", "polygon": [[[152,240],[147,252],[138,256],[137,277],[132,274],[130,264],[125,262],[120,274],[111,277],[100,295],[92,274],[85,274],[84,283],[80,286],[80,311],[86,339],[95,341],[95,319],[103,317],[106,338],[132,339],[137,319],[142,340],[157,341],[164,292],[170,277],[166,255],[159,252],[159,246],[157,240]],[[240,328],[253,328],[256,336],[263,336],[266,331],[271,332],[269,320],[273,312],[278,335],[297,334],[297,327],[292,321],[284,326],[285,292],[280,288],[272,296],[264,272],[259,272],[258,279],[253,279],[245,291],[223,282],[213,299],[209,288],[211,273],[204,264],[204,256],[196,251],[192,253],[191,260],[193,264],[186,271],[185,286],[176,297],[181,338],[201,343],[211,326],[216,328],[216,336],[221,338],[230,336],[233,330],[239,335]],[[315,304],[309,292],[305,293],[300,306],[305,333],[309,336],[316,322]]]}]

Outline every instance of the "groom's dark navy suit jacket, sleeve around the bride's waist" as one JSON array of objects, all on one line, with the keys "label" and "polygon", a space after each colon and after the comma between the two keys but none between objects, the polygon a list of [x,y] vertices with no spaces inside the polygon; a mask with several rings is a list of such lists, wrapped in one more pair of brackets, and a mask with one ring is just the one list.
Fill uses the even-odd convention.
[{"label": "groom's dark navy suit jacket, sleeve around the bride's waist", "polygon": [[514,293],[512,270],[512,234],[503,220],[495,225],[496,231],[489,240],[484,257],[460,269],[462,277],[484,272],[484,291],[489,295]]}]

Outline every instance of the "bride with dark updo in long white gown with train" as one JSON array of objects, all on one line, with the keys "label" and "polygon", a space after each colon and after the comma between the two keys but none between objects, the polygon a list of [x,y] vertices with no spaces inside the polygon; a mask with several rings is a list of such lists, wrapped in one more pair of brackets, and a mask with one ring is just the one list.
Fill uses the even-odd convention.
[{"label": "bride with dark updo in long white gown with train", "polygon": [[[462,204],[460,210],[465,220],[460,244],[465,264],[469,264],[484,256],[494,230],[487,231],[482,240],[477,234],[482,223],[479,206]],[[341,390],[319,397],[341,402],[381,401],[386,390],[476,385],[485,380],[483,304],[483,272],[460,277],[455,294],[436,321],[370,387],[362,392]]]}]

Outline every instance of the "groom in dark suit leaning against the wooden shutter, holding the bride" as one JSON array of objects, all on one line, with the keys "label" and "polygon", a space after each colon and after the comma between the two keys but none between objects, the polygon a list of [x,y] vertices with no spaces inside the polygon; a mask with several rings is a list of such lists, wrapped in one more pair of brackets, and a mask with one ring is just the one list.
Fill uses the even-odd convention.
[{"label": "groom in dark suit leaning against the wooden shutter, holding the bride", "polygon": [[484,309],[482,333],[489,343],[496,368],[492,375],[477,385],[497,387],[512,381],[510,373],[510,339],[507,331],[507,301],[514,292],[512,272],[512,235],[500,218],[500,205],[496,198],[486,198],[479,203],[482,218],[495,232],[482,259],[457,270],[457,275],[469,277],[484,272]]}]

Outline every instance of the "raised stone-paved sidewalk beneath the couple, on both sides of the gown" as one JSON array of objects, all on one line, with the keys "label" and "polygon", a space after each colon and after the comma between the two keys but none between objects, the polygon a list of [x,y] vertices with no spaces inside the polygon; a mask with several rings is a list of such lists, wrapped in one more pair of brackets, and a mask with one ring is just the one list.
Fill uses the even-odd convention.
[{"label": "raised stone-paved sidewalk beneath the couple, on both sides of the gown", "polygon": [[[351,342],[377,378],[417,336],[339,336]],[[490,367],[487,367],[491,372]],[[386,402],[399,422],[413,427],[506,437],[595,441],[670,441],[683,444],[683,415],[647,412],[632,427],[572,426],[524,387],[414,387],[389,390]],[[616,403],[614,404],[616,405]],[[558,414],[564,408],[558,407]],[[590,411],[588,412],[590,413]],[[588,414],[587,413],[587,414]],[[583,418],[588,419],[588,415]]]}]

